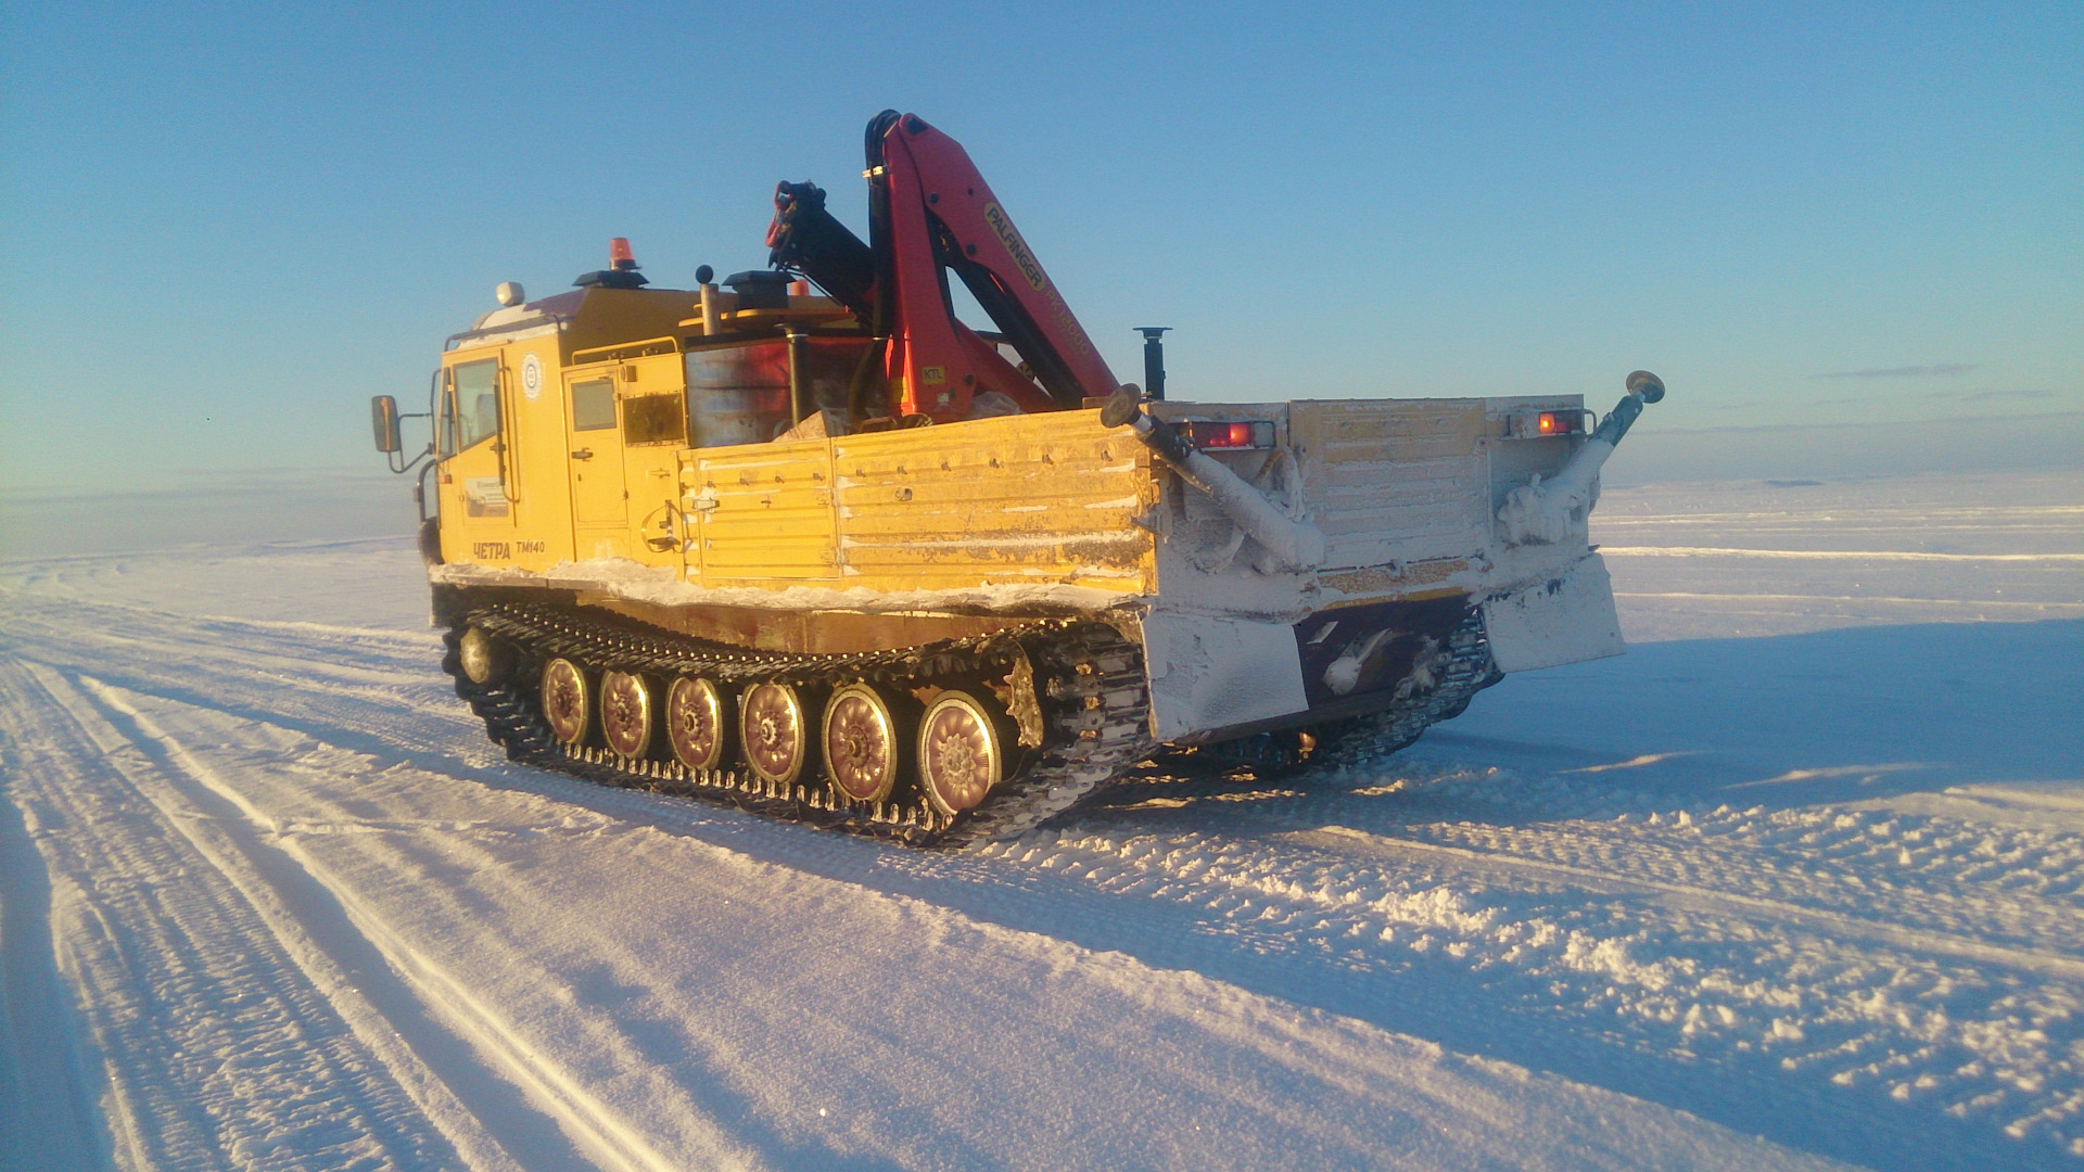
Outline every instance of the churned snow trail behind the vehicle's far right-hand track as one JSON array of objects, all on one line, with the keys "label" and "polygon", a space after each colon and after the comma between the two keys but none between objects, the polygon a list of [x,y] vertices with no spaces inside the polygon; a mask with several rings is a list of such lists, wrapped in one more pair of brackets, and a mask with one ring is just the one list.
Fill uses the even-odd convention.
[{"label": "churned snow trail behind the vehicle's far right-hand track", "polygon": [[[1423,759],[1413,759],[1405,767],[1415,770],[1411,776],[1423,776],[1428,765]],[[1469,774],[1448,767],[1444,776],[1469,778]],[[1807,926],[1832,936],[1988,961],[2063,980],[2084,978],[2084,955],[2076,951],[2019,947],[2019,941],[2084,941],[2084,901],[2078,899],[2084,851],[2076,849],[2074,840],[2065,847],[2059,834],[1984,828],[1971,849],[1955,847],[1967,855],[1961,859],[1965,874],[1951,872],[1946,865],[1957,859],[1944,855],[1919,859],[1917,865],[1924,870],[1911,872],[1911,847],[1932,853],[1924,851],[1924,843],[1934,838],[1930,828],[1915,826],[1924,822],[1917,817],[1844,813],[1836,807],[1763,815],[1759,809],[1732,811],[1726,805],[1715,811],[1680,809],[1671,817],[1659,817],[1655,809],[1642,805],[1646,795],[1626,788],[1601,792],[1603,786],[1588,782],[1557,786],[1555,778],[1530,784],[1515,776],[1484,776],[1482,784],[1450,780],[1446,786],[1434,786],[1434,792],[1390,786],[1342,795],[1336,786],[1336,780],[1319,780],[1307,792],[1286,790],[1300,803],[1294,809],[1267,809],[1269,803],[1255,801],[1225,811],[1221,830],[1236,830],[1240,838],[1259,834],[1290,840],[1332,855],[1403,851],[1407,857],[1461,859],[1463,870],[1473,876],[1519,874],[1561,880],[1563,886],[1592,893],[1661,895],[1671,897],[1667,901],[1671,907],[1713,911],[1730,920]],[[1450,792],[1442,795],[1440,788]],[[1559,788],[1567,795],[1561,801],[1555,797]],[[1184,790],[1194,797],[1159,801],[1190,805],[1190,801],[1248,797],[1236,784],[1184,786]],[[1384,807],[1380,799],[1392,795],[1407,801]],[[1469,797],[1478,797],[1478,805],[1471,805]],[[1615,824],[1617,809],[1619,824]],[[1113,826],[1115,817],[1115,811],[1098,809],[1082,822],[1111,834],[1134,832],[1132,826]],[[1798,824],[1778,826],[1786,820]],[[1369,828],[1369,822],[1378,826]],[[1913,824],[1911,832],[1905,834],[1899,822]],[[1155,824],[1157,820],[1152,828]],[[1080,822],[1073,822],[1065,832],[1077,828]],[[1796,834],[1801,843],[1790,849],[1784,838]],[[2032,851],[2036,845],[2044,849]],[[1761,847],[1769,851],[1761,853]],[[1865,849],[1869,857],[1844,857],[1842,851],[1849,847]],[[1899,853],[1903,863],[1896,874],[1874,874],[1878,855]],[[2046,882],[2003,890],[1969,878],[2007,857],[2011,865],[2040,868],[2036,874],[2044,874]],[[1859,863],[1867,868],[1865,878],[1855,870]],[[2003,878],[2017,880],[2017,876]],[[1709,886],[1709,880],[1717,886]],[[1871,913],[1878,897],[1886,897],[1886,907],[1899,915],[1896,922]]]}]

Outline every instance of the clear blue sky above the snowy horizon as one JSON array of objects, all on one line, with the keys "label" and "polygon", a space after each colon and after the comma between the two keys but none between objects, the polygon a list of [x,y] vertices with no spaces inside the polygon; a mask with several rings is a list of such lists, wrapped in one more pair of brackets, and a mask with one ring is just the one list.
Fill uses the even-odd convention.
[{"label": "clear blue sky above the snowy horizon", "polygon": [[8,4],[0,486],[365,469],[492,286],[977,161],[1125,380],[1651,423],[2084,409],[2084,8]]}]

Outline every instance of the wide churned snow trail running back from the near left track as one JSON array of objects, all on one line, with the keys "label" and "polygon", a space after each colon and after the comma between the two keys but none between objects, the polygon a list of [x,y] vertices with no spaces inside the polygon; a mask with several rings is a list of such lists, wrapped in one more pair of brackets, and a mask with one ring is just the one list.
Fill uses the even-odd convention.
[{"label": "wide churned snow trail running back from the near left track", "polygon": [[[1428,763],[1407,759],[1403,770],[1423,778]],[[2084,1155],[2078,1128],[2084,988],[2071,976],[2076,957],[1959,932],[1934,938],[1926,928],[1899,930],[1874,920],[1865,924],[1869,930],[1840,934],[1832,930],[1832,911],[1788,903],[1782,915],[1769,899],[1692,903],[1659,884],[1723,893],[1644,882],[1628,868],[1542,868],[1540,859],[1519,868],[1517,855],[1453,849],[1384,849],[1369,857],[1371,840],[1382,834],[1350,828],[1325,834],[1325,817],[1359,813],[1355,807],[1363,803],[1348,795],[1211,790],[1209,797],[1221,813],[1096,811],[994,851],[1038,878],[1198,909],[1196,934],[1234,938],[1236,957],[1284,957],[1275,972],[1317,968],[1315,978],[1290,980],[1321,984],[1328,997],[1338,997],[1332,991],[1340,984],[1350,984],[1346,997],[1367,997],[1382,980],[1434,974],[1457,982],[1463,1011],[1519,1020],[1536,1036],[1565,1030],[1532,1043],[1536,1051],[1561,1053],[1607,1034],[1630,1051],[1678,1059],[1665,1074],[1655,1074],[1657,1064],[1638,1070],[1671,1091],[1694,1082],[1707,1061],[1736,1076],[1807,1082],[1803,1095],[1819,1097],[1805,1105],[1824,1120],[1811,1126],[1826,1132],[1874,1109],[1907,1128],[1874,1132],[1865,1155],[1834,1149],[1840,1157],[1892,1159],[1884,1153],[1894,1151],[1894,1159],[1936,1166],[1936,1157],[1917,1153],[1934,1143],[1938,1151],[1961,1151],[1961,1143],[1974,1149],[1990,1139],[2019,1166],[2061,1164],[2057,1151]],[[1236,801],[1250,797],[1259,801]],[[1503,811],[1467,797],[1444,801],[1423,790],[1400,797],[1409,803],[1400,811],[1375,801],[1375,817],[1388,813],[1396,824],[1421,822],[1425,832],[1496,834],[1528,847],[1553,847],[1584,826],[1582,811],[1563,813],[1561,824],[1515,828],[1534,811]],[[1282,811],[1284,803],[1298,809]],[[1628,807],[1636,809],[1634,801]],[[1511,813],[1503,828],[1500,813]],[[1559,811],[1546,817],[1557,820]],[[1832,822],[1830,811],[1817,817]],[[1613,845],[1613,857],[1657,861],[1634,857],[1626,845]],[[1792,880],[1805,878],[1807,855],[1780,857]],[[1703,870],[1713,863],[1707,859]],[[1490,1034],[1471,1024],[1448,1026],[1440,1036],[1484,1047],[1496,1045],[1482,1041]],[[1496,1053],[1530,1061],[1511,1043]],[[1723,1118],[1715,1105],[1684,1093],[1673,1101]],[[1901,1103],[1921,1105],[1924,1122],[1903,1116]],[[1836,1124],[1832,1109],[1842,1112]],[[1969,1130],[1951,1143],[1934,1134],[1957,1126]],[[1978,1132],[1984,1139],[1969,1139]],[[2021,1139],[2028,1143],[2013,1147]]]}]

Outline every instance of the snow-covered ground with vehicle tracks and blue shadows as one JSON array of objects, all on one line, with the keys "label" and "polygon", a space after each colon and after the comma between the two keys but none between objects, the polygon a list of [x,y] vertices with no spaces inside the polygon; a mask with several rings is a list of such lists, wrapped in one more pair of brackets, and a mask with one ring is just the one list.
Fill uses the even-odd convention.
[{"label": "snow-covered ground with vehicle tracks and blue shadows", "polygon": [[0,1164],[2084,1166],[2084,475],[1594,534],[1628,657],[963,855],[508,765],[406,540],[0,563]]}]

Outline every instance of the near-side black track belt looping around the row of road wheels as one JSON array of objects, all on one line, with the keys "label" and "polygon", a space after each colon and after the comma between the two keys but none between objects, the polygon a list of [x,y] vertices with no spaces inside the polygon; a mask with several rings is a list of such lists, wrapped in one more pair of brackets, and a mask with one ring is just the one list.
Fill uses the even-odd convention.
[{"label": "near-side black track belt looping around the row of road wheels", "polygon": [[[506,644],[504,678],[473,684],[463,674],[456,646],[469,626]],[[925,646],[859,655],[759,653],[671,636],[629,621],[577,617],[567,611],[492,605],[465,615],[446,634],[442,667],[456,694],[486,722],[486,732],[506,755],[527,765],[556,770],[590,782],[704,797],[790,822],[871,834],[911,847],[967,847],[1013,838],[1071,809],[1107,782],[1148,757],[1148,694],[1142,651],[1115,628],[1094,621],[1038,621],[1013,632]],[[534,665],[552,655],[588,669],[650,676],[706,676],[742,688],[752,682],[840,686],[857,680],[913,688],[1004,676],[1025,653],[1036,674],[1044,715],[1044,742],[1027,765],[1000,782],[977,809],[946,820],[923,801],[909,805],[842,805],[821,784],[777,790],[750,770],[688,770],[679,761],[623,761],[604,749],[571,749],[550,734],[534,680]],[[519,672],[515,669],[519,667]]]}]

